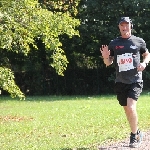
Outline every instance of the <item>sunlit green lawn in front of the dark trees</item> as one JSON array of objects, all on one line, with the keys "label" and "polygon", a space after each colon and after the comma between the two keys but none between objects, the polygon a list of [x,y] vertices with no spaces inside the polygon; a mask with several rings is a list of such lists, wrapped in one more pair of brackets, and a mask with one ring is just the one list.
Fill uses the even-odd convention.
[{"label": "sunlit green lawn in front of the dark trees", "polygon": [[[150,95],[138,101],[139,126],[150,126]],[[1,150],[85,150],[128,137],[116,97],[47,96],[0,99]]]}]

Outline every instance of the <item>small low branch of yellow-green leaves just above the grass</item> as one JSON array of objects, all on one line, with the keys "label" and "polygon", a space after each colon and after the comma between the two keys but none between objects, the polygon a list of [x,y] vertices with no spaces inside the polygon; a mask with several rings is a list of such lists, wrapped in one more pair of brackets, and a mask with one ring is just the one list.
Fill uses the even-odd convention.
[{"label": "small low branch of yellow-green leaves just above the grass", "polygon": [[19,97],[24,99],[24,94],[20,91],[19,87],[14,82],[14,75],[10,69],[0,67],[0,87],[8,91],[11,97]]}]

